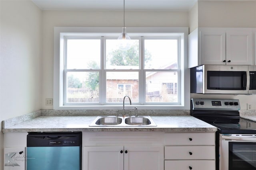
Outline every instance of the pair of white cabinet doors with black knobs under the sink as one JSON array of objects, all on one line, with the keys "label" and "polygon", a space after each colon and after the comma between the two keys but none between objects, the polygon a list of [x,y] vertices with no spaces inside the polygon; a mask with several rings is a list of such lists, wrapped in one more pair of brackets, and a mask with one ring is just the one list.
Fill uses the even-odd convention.
[{"label": "pair of white cabinet doors with black knobs under the sink", "polygon": [[83,170],[164,170],[164,147],[84,147]]}]

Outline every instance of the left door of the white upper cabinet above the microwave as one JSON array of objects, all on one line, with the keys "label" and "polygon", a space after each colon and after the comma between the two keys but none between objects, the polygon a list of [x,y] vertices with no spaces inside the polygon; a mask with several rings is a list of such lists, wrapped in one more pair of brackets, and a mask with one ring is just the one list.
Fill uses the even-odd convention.
[{"label": "left door of the white upper cabinet above the microwave", "polygon": [[226,64],[226,31],[200,31],[200,64]]}]

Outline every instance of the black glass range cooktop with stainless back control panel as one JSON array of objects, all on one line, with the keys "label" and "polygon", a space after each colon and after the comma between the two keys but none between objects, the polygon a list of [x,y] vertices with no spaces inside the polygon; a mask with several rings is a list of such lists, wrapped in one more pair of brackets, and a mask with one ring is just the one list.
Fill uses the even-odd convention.
[{"label": "black glass range cooktop with stainless back control panel", "polygon": [[239,100],[192,99],[190,115],[218,128],[222,134],[254,134],[256,122],[240,117]]}]

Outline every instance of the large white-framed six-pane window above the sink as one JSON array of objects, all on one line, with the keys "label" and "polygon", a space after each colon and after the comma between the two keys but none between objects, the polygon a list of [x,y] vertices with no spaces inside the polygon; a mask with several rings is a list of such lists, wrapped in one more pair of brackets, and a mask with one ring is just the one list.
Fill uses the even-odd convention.
[{"label": "large white-framed six-pane window above the sink", "polygon": [[61,29],[55,29],[56,109],[119,106],[125,95],[138,106],[184,106],[182,31],[130,33],[131,48],[122,51],[119,33]]}]

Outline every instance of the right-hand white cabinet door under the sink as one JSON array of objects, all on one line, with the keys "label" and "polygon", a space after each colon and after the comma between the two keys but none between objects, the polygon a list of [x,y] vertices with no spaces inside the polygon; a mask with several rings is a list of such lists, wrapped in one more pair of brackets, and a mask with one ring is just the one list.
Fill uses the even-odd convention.
[{"label": "right-hand white cabinet door under the sink", "polygon": [[164,170],[164,147],[124,147],[124,151],[124,170]]}]

